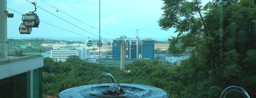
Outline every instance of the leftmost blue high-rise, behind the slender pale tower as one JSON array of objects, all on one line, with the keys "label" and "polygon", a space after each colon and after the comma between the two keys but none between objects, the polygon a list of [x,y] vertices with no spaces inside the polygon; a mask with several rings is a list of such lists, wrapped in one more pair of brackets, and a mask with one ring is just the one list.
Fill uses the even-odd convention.
[{"label": "leftmost blue high-rise, behind the slender pale tower", "polygon": [[121,44],[123,42],[122,38],[116,38],[112,43],[112,58],[121,58]]}]

